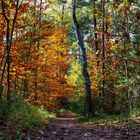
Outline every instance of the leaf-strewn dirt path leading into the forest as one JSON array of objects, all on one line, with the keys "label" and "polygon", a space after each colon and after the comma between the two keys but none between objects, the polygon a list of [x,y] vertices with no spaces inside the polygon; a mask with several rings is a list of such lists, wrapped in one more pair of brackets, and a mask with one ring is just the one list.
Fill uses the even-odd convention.
[{"label": "leaf-strewn dirt path leading into the forest", "polygon": [[76,115],[60,115],[31,140],[140,140],[140,125],[81,125]]}]

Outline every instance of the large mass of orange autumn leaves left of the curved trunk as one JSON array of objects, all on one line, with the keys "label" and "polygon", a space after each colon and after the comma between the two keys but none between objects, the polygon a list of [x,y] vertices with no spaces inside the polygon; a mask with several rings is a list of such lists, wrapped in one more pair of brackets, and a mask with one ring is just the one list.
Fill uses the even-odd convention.
[{"label": "large mass of orange autumn leaves left of the curved trunk", "polygon": [[[66,88],[70,63],[67,30],[56,27],[45,11],[40,11],[38,3],[27,0],[20,4],[10,50],[11,92],[17,90],[26,101],[59,109],[61,98],[71,94]],[[15,7],[10,12],[13,19]],[[3,52],[4,49],[0,51],[1,56]]]}]

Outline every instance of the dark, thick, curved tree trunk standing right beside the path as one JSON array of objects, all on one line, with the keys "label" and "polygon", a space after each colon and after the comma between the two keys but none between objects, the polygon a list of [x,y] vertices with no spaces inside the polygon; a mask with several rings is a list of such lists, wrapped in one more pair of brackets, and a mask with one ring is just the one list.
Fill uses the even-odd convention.
[{"label": "dark, thick, curved tree trunk standing right beside the path", "polygon": [[85,50],[85,46],[83,43],[83,39],[82,39],[82,35],[80,32],[80,26],[79,23],[77,21],[77,17],[76,17],[76,5],[77,5],[77,0],[73,1],[73,10],[72,10],[72,17],[73,17],[73,22],[76,28],[76,34],[77,34],[77,39],[79,42],[79,46],[81,48],[81,52],[82,52],[82,73],[83,73],[83,77],[85,79],[85,90],[86,90],[86,101],[87,101],[87,113],[88,116],[92,115],[92,113],[94,114],[94,107],[93,107],[93,101],[91,98],[91,87],[90,87],[90,77],[89,77],[89,73],[87,71],[87,56],[86,56],[86,50]]}]

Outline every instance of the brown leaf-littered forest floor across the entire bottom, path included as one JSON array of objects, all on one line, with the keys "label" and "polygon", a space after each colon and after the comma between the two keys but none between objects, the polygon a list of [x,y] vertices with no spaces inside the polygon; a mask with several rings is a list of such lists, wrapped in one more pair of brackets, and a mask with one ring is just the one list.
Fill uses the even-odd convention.
[{"label": "brown leaf-littered forest floor across the entire bottom, path included", "polygon": [[[13,124],[13,128],[15,126]],[[0,119],[0,135],[5,127],[4,121]],[[7,134],[3,138],[0,137],[0,140],[140,140],[140,119],[137,119],[134,125],[130,123],[103,125],[94,122],[85,124],[79,122],[77,115],[67,113],[56,117],[43,127],[30,132],[24,130],[20,138],[15,137],[13,130],[7,130]]]}]

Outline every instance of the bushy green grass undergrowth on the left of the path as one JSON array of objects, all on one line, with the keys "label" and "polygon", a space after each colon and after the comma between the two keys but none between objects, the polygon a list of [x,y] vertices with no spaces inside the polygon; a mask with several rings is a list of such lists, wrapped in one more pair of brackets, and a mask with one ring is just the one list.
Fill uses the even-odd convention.
[{"label": "bushy green grass undergrowth on the left of the path", "polygon": [[13,124],[13,122],[17,123],[18,129],[30,130],[54,118],[55,114],[44,108],[24,102],[16,102],[8,105],[5,99],[1,99],[0,117],[9,125]]}]

